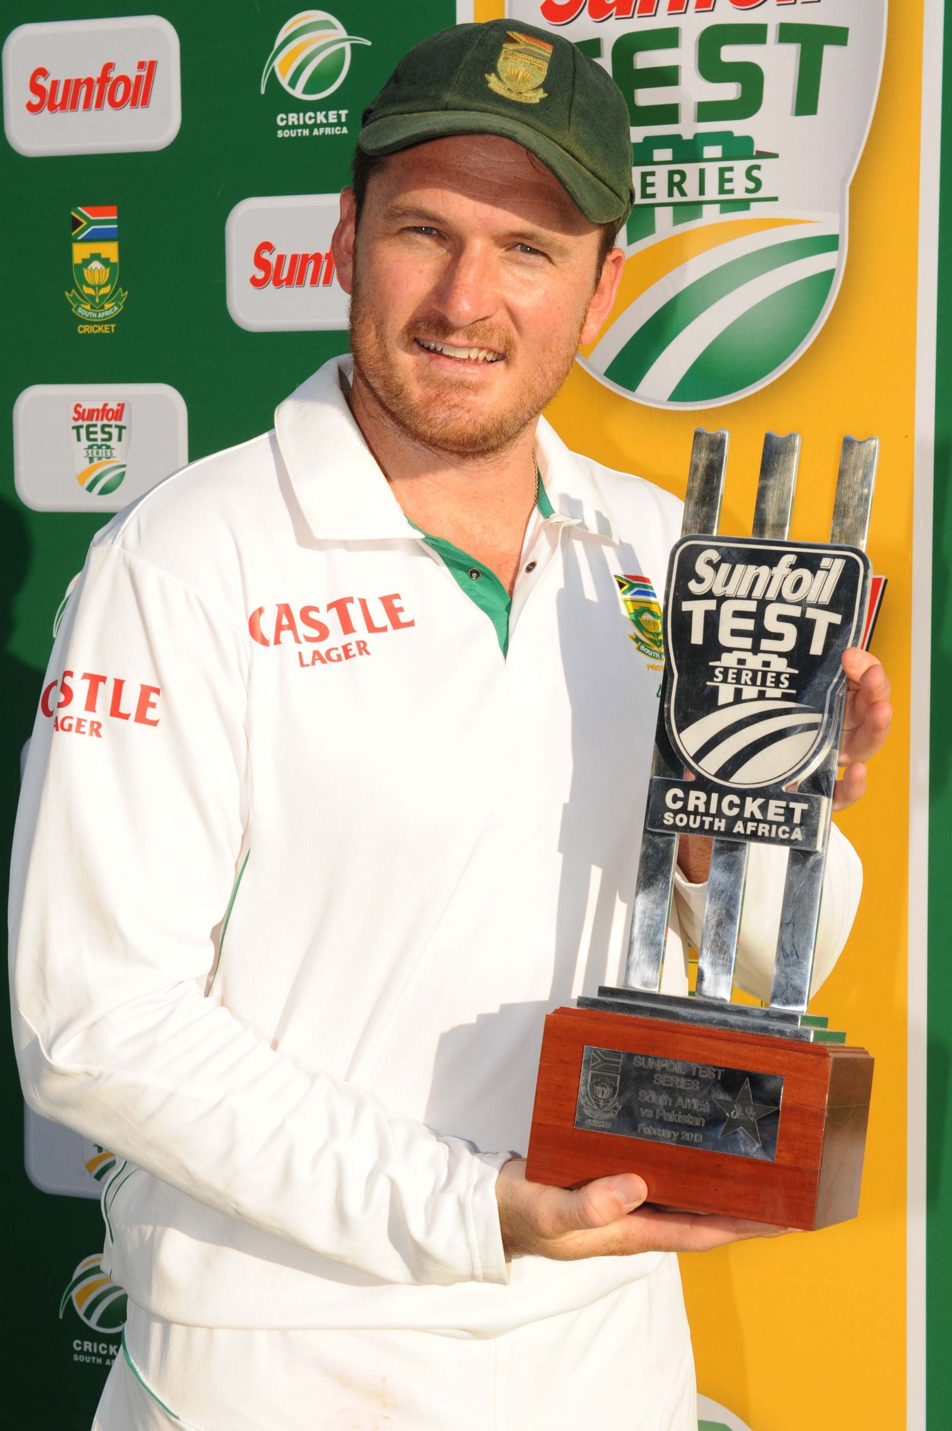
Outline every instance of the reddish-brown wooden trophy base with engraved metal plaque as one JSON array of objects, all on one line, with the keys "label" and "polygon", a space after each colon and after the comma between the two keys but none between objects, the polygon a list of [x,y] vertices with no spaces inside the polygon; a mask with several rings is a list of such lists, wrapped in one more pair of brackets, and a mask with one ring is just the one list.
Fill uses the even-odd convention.
[{"label": "reddish-brown wooden trophy base with engraved metal plaque", "polygon": [[872,1070],[838,1043],[556,1009],[526,1176],[636,1172],[649,1202],[826,1228],[856,1216]]}]

